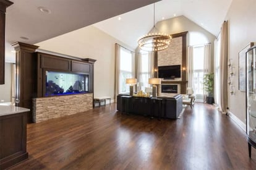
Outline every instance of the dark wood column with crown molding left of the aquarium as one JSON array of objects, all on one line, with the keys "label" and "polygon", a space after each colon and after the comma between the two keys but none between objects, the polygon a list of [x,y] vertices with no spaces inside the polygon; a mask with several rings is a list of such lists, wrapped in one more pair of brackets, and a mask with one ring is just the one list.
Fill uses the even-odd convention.
[{"label": "dark wood column with crown molding left of the aquarium", "polygon": [[33,122],[33,101],[36,97],[36,56],[38,46],[16,42],[12,46],[16,50],[16,92],[15,106],[28,108],[28,123]]}]

